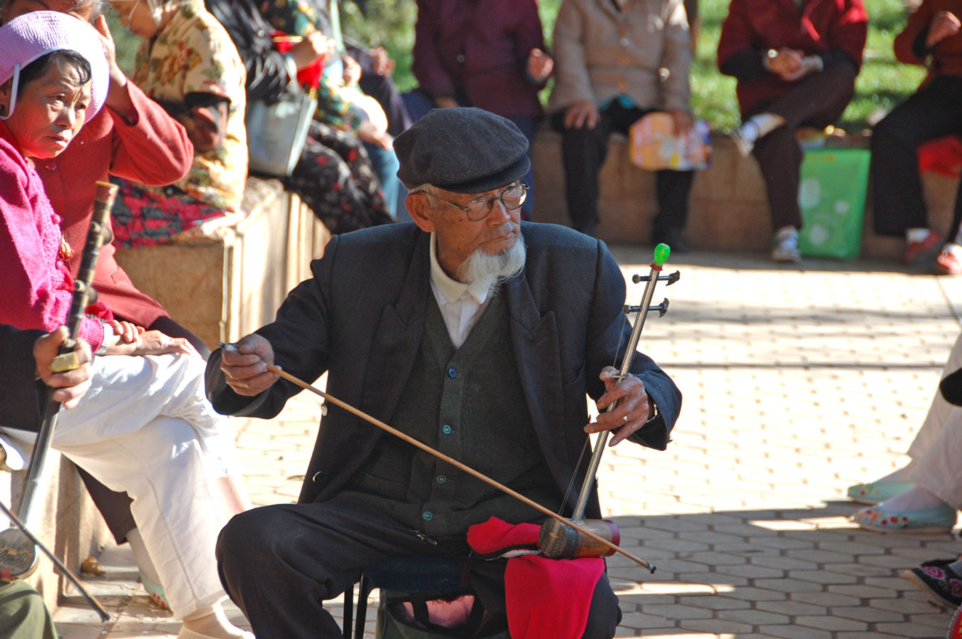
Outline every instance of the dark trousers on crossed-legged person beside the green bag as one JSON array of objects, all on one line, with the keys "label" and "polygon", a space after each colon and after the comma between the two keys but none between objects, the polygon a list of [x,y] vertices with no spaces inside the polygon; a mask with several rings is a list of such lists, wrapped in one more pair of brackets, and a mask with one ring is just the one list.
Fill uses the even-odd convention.
[{"label": "dark trousers on crossed-legged person beside the green bag", "polygon": [[797,129],[823,128],[835,122],[851,101],[855,75],[855,67],[848,62],[833,64],[806,76],[785,95],[742,114],[743,121],[761,112],[785,118],[784,126],[757,140],[753,151],[765,180],[775,230],[784,226],[801,228],[798,184],[804,154],[795,139]]}]

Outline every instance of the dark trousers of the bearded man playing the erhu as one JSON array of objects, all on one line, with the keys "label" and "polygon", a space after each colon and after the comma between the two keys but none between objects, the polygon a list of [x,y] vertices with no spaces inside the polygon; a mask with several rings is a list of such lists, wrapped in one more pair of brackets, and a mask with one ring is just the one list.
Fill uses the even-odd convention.
[{"label": "dark trousers of the bearded man playing the erhu", "polygon": [[[419,537],[376,508],[347,498],[278,504],[236,515],[217,540],[220,580],[258,639],[340,639],[323,602],[341,595],[366,566],[408,556],[450,557],[466,565],[485,611],[507,627],[506,560],[468,558],[464,541]],[[611,639],[621,620],[606,577],[595,587],[584,639]]]}]

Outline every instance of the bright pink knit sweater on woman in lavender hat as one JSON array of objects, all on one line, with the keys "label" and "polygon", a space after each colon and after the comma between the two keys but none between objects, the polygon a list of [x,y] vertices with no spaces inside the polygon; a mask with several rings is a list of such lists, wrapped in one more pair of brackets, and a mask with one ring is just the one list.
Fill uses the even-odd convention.
[{"label": "bright pink knit sweater on woman in lavender hat", "polygon": [[[66,323],[73,278],[60,247],[60,216],[50,205],[33,162],[0,122],[0,323],[48,332]],[[114,317],[102,304],[87,311],[101,319]],[[104,329],[88,317],[80,335],[96,350]]]}]

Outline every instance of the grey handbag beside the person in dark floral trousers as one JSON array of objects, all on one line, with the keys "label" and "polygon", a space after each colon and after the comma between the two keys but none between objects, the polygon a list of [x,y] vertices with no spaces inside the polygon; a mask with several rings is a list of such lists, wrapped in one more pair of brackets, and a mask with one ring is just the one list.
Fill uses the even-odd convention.
[{"label": "grey handbag beside the person in dark floral trousers", "polygon": [[244,115],[248,170],[275,178],[290,177],[304,150],[315,108],[315,96],[296,85],[276,102],[248,102]]}]

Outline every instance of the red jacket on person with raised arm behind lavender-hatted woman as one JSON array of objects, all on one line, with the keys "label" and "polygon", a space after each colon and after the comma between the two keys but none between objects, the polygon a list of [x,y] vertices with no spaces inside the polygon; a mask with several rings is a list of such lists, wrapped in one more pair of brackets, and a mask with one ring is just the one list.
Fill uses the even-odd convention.
[{"label": "red jacket on person with raised arm behind lavender-hatted woman", "polygon": [[[127,88],[135,124],[105,106],[60,156],[37,161],[47,197],[62,218],[63,237],[73,249],[69,265],[74,277],[93,215],[96,181],[107,180],[110,173],[142,184],[171,184],[183,178],[193,162],[193,145],[184,127],[133,83]],[[139,326],[149,327],[167,316],[164,307],[137,290],[114,259],[110,243],[100,250],[93,287],[101,302]]]}]

